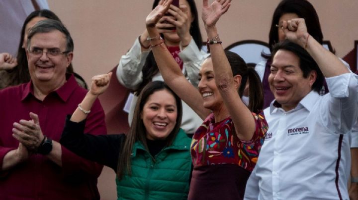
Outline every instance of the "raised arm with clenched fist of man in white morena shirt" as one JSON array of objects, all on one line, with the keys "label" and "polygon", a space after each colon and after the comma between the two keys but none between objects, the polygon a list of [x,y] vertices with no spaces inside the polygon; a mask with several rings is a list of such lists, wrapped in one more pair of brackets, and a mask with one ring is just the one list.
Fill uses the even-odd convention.
[{"label": "raised arm with clenched fist of man in white morena shirt", "polygon": [[282,29],[288,40],[307,50],[326,77],[330,103],[321,116],[327,116],[327,127],[335,133],[348,133],[356,123],[358,114],[357,77],[350,73],[336,55],[323,48],[308,34],[304,19],[284,21]]}]

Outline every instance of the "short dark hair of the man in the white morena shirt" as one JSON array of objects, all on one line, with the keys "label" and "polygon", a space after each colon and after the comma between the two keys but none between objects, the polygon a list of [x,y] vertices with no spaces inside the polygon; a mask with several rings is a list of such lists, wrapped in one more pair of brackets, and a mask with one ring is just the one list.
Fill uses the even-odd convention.
[{"label": "short dark hair of the man in the white morena shirt", "polygon": [[289,40],[284,40],[273,46],[272,59],[278,50],[288,50],[297,55],[299,59],[299,67],[303,73],[303,78],[307,78],[311,71],[316,71],[317,78],[316,81],[313,83],[311,89],[320,93],[324,83],[324,76],[322,71],[318,67],[317,62],[311,57],[311,55],[301,46],[292,43]]}]

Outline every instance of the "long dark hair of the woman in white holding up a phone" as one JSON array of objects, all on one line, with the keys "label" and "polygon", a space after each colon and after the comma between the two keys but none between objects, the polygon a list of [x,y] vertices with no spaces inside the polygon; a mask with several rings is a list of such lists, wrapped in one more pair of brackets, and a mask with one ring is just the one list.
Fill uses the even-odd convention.
[{"label": "long dark hair of the woman in white holding up a phone", "polygon": [[[160,0],[154,0],[152,9],[154,9],[158,5],[159,1]],[[201,32],[199,27],[199,17],[198,17],[198,11],[196,9],[196,4],[194,0],[186,0],[186,1],[190,6],[191,16],[193,17],[193,21],[191,22],[189,33],[193,38],[193,40],[195,41],[196,46],[199,48],[199,50],[201,50],[202,38],[201,38]],[[164,38],[163,35],[162,37]],[[143,80],[142,83],[137,88],[137,90],[135,91],[136,94],[139,94],[140,91],[143,89],[143,87],[147,85],[149,82],[151,82],[153,76],[156,75],[158,72],[159,72],[158,65],[154,59],[153,52],[150,51],[142,69]]]}]

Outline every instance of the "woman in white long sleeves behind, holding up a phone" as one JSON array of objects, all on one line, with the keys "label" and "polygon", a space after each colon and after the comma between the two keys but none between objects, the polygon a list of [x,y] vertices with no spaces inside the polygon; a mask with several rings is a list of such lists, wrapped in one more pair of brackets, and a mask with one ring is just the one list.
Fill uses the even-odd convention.
[{"label": "woman in white long sleeves behind, holding up a phone", "polygon": [[[153,8],[158,3],[159,0],[154,0]],[[201,50],[202,38],[195,1],[179,0],[179,7],[171,5],[169,13],[170,15],[159,20],[157,28],[186,79],[197,87],[200,66],[209,54]],[[136,94],[151,81],[163,81],[147,38],[148,32],[145,30],[135,40],[132,48],[121,57],[117,67],[118,81]],[[132,122],[136,102],[137,96],[134,96],[128,116],[129,124]],[[181,102],[181,128],[186,133],[193,134],[202,120],[185,102]]]}]

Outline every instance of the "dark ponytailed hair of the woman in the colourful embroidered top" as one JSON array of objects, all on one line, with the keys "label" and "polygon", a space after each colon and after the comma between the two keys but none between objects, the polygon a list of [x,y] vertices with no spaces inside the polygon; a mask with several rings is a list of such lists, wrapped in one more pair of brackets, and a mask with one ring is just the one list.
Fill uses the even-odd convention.
[{"label": "dark ponytailed hair of the woman in the colourful embroidered top", "polygon": [[241,85],[239,88],[239,96],[242,98],[246,86],[249,81],[249,105],[248,108],[255,113],[261,112],[264,106],[263,87],[260,76],[253,67],[248,67],[244,59],[232,52],[225,50],[225,55],[229,60],[233,76],[241,75]]}]

